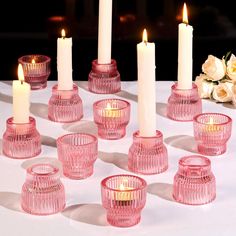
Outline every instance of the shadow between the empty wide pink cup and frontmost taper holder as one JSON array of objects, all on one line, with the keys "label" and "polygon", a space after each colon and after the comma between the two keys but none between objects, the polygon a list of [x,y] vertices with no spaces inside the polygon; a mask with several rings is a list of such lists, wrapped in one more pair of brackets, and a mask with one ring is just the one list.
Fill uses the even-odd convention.
[{"label": "shadow between the empty wide pink cup and frontmost taper holder", "polygon": [[122,170],[128,171],[128,155],[119,152],[98,152],[98,158],[106,163],[113,164]]}]

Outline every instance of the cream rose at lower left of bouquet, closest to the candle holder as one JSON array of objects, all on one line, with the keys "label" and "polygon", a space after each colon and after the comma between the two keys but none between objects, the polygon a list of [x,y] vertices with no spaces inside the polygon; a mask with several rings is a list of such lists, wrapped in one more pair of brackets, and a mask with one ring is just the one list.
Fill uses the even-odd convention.
[{"label": "cream rose at lower left of bouquet, closest to the candle holder", "polygon": [[195,79],[195,84],[198,87],[198,93],[201,98],[210,98],[214,88],[214,84],[209,80],[209,77],[205,74],[200,74]]}]

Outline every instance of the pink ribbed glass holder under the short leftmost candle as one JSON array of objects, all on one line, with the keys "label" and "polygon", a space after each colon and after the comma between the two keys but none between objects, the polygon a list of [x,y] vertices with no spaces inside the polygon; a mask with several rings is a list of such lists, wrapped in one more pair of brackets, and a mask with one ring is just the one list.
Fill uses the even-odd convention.
[{"label": "pink ribbed glass holder under the short leftmost candle", "polygon": [[33,117],[29,117],[29,123],[14,123],[13,117],[7,119],[2,142],[3,154],[10,158],[31,158],[41,152],[41,138]]}]

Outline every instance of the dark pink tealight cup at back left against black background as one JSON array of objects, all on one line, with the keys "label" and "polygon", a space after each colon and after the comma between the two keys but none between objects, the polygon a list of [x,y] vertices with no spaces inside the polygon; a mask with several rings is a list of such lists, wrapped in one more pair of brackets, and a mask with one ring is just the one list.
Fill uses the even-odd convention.
[{"label": "dark pink tealight cup at back left against black background", "polygon": [[48,77],[51,73],[51,58],[44,55],[26,55],[18,59],[24,70],[25,81],[32,90],[47,87]]}]

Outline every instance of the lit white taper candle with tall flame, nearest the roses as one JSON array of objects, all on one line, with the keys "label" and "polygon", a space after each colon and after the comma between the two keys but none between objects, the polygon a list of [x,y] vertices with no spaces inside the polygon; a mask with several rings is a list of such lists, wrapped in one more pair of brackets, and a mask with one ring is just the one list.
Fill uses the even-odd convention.
[{"label": "lit white taper candle with tall flame, nearest the roses", "polygon": [[184,3],[183,23],[179,24],[178,37],[178,88],[192,88],[193,27],[188,24],[187,7]]}]

